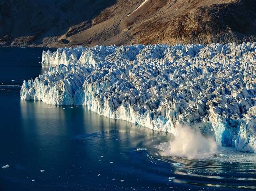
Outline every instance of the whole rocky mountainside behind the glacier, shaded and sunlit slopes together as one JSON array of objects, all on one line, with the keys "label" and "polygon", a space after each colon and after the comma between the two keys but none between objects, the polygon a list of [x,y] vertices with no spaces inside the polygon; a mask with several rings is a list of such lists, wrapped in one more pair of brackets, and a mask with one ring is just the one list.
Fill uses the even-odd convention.
[{"label": "whole rocky mountainside behind the glacier, shaded and sunlit slopes together", "polygon": [[2,0],[0,46],[256,41],[256,0]]}]

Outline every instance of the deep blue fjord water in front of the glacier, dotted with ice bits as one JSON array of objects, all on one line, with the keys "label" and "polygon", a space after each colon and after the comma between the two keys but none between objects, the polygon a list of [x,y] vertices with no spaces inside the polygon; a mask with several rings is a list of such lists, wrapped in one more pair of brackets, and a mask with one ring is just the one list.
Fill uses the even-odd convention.
[{"label": "deep blue fjord water in front of the glacier, dotted with ice bits", "polygon": [[203,159],[170,157],[171,134],[85,106],[20,100],[23,80],[49,68],[43,50],[0,49],[0,190],[256,189],[253,153],[222,147]]}]

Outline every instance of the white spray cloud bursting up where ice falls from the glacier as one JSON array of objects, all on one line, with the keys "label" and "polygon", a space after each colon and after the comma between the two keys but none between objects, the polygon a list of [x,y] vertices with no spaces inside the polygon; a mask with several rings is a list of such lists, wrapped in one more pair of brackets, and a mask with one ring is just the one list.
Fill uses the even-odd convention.
[{"label": "white spray cloud bursting up where ice falls from the glacier", "polygon": [[189,126],[177,126],[177,134],[167,148],[161,149],[162,156],[186,157],[188,159],[209,158],[217,151],[213,137],[205,137],[199,129]]}]

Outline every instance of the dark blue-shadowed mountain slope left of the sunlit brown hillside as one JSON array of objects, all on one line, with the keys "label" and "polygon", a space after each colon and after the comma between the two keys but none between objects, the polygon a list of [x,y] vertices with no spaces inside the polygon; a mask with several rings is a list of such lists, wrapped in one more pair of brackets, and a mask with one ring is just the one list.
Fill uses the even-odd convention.
[{"label": "dark blue-shadowed mountain slope left of the sunlit brown hillside", "polygon": [[93,18],[115,3],[115,0],[2,0],[0,44],[41,44],[42,40],[51,44],[73,25],[88,28]]}]

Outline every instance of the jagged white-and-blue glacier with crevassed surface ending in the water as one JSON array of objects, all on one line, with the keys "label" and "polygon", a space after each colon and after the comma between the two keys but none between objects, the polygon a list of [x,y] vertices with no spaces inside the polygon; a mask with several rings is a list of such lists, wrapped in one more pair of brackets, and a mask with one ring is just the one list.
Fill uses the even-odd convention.
[{"label": "jagged white-and-blue glacier with crevassed surface ending in the water", "polygon": [[24,80],[22,100],[85,105],[113,119],[256,153],[256,43],[130,45],[42,52],[50,64]]}]

